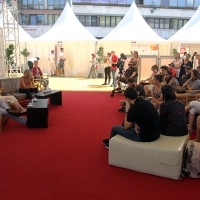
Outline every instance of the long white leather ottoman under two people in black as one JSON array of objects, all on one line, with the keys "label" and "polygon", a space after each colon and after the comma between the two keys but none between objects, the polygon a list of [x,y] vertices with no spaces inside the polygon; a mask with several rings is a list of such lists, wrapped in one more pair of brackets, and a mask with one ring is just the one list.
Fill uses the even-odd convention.
[{"label": "long white leather ottoman under two people in black", "polygon": [[177,180],[188,141],[189,135],[161,135],[154,142],[134,142],[116,135],[109,142],[109,164]]}]

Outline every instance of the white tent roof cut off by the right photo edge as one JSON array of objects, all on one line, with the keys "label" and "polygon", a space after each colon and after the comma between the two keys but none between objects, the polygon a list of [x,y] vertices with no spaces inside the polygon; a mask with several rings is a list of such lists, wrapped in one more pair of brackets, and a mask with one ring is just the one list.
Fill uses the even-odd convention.
[{"label": "white tent roof cut off by the right photo edge", "polygon": [[200,43],[200,7],[191,17],[191,19],[168,41],[178,43]]}]

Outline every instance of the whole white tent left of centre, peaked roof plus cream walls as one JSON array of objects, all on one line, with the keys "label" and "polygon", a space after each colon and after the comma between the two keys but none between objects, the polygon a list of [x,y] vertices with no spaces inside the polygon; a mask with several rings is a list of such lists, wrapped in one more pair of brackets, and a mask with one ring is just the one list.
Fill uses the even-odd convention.
[{"label": "whole white tent left of centre, peaked roof plus cream walls", "polygon": [[90,68],[91,54],[95,53],[97,39],[79,22],[67,3],[54,26],[42,36],[35,39],[35,44],[28,45],[32,56],[40,57],[40,67],[50,73],[48,56],[56,50],[57,60],[59,49],[64,48],[65,74],[85,76]]}]

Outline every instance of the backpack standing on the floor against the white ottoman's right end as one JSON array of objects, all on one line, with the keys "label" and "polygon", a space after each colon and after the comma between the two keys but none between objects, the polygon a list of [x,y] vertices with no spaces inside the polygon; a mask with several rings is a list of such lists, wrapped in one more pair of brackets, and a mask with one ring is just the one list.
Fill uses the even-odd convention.
[{"label": "backpack standing on the floor against the white ottoman's right end", "polygon": [[182,177],[200,178],[200,143],[189,140],[183,155]]}]

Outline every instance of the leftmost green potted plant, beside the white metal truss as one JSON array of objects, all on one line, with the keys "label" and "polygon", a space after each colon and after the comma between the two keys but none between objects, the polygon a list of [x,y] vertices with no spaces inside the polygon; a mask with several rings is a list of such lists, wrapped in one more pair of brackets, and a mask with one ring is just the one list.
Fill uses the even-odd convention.
[{"label": "leftmost green potted plant, beside the white metal truss", "polygon": [[15,65],[14,50],[15,50],[15,47],[13,44],[9,44],[9,46],[5,49],[5,61],[6,61],[8,73],[12,69],[12,66]]}]

